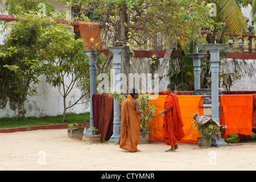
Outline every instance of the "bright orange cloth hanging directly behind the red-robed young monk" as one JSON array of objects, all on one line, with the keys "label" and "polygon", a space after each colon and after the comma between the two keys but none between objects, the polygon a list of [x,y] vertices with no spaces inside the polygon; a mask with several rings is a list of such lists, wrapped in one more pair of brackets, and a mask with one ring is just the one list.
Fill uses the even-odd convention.
[{"label": "bright orange cloth hanging directly behind the red-robed young monk", "polygon": [[[164,91],[163,91],[164,92]],[[150,122],[150,142],[163,142],[163,115],[159,116],[159,112],[164,110],[164,101],[167,96],[152,96],[151,105],[155,105],[156,112],[154,118]],[[185,136],[179,143],[197,143],[197,137],[200,134],[193,127],[193,114],[199,111],[203,115],[203,97],[201,96],[177,96],[179,98],[181,118],[184,126]]]}]

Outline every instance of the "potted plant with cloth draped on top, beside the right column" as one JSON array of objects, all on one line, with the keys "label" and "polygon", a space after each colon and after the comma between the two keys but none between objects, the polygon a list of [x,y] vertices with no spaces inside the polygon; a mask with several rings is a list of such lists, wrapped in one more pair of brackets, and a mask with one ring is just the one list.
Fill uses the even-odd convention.
[{"label": "potted plant with cloth draped on top, beside the right column", "polygon": [[213,134],[220,137],[221,129],[225,129],[226,127],[219,125],[212,118],[203,116],[202,119],[205,119],[204,122],[201,122],[203,121],[202,119],[199,121],[199,118],[200,115],[196,112],[193,115],[193,126],[201,134],[201,137],[197,137],[197,141],[199,143],[199,147],[209,148],[212,146]]}]

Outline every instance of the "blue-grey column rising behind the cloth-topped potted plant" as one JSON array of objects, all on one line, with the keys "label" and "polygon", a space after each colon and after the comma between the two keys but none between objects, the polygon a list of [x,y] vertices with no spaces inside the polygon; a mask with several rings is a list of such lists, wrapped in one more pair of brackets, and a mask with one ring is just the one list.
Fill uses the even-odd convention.
[{"label": "blue-grey column rising behind the cloth-topped potted plant", "polygon": [[[220,51],[227,44],[204,44],[203,46],[210,51],[210,71],[212,75],[212,118],[220,123],[219,114],[219,88],[218,88],[218,68],[220,63]],[[222,138],[217,140],[216,135],[214,135],[212,146],[225,146],[228,145]]]}]

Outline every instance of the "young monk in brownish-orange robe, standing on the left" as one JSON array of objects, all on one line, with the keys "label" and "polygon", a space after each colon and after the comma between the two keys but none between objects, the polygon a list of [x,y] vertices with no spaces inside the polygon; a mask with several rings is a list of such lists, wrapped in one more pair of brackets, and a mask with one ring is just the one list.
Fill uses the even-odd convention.
[{"label": "young monk in brownish-orange robe, standing on the left", "polygon": [[141,132],[141,113],[139,110],[139,91],[132,89],[130,92],[132,98],[122,102],[121,109],[121,131],[119,138],[119,147],[129,152],[140,152],[137,148],[139,144],[139,135]]}]

